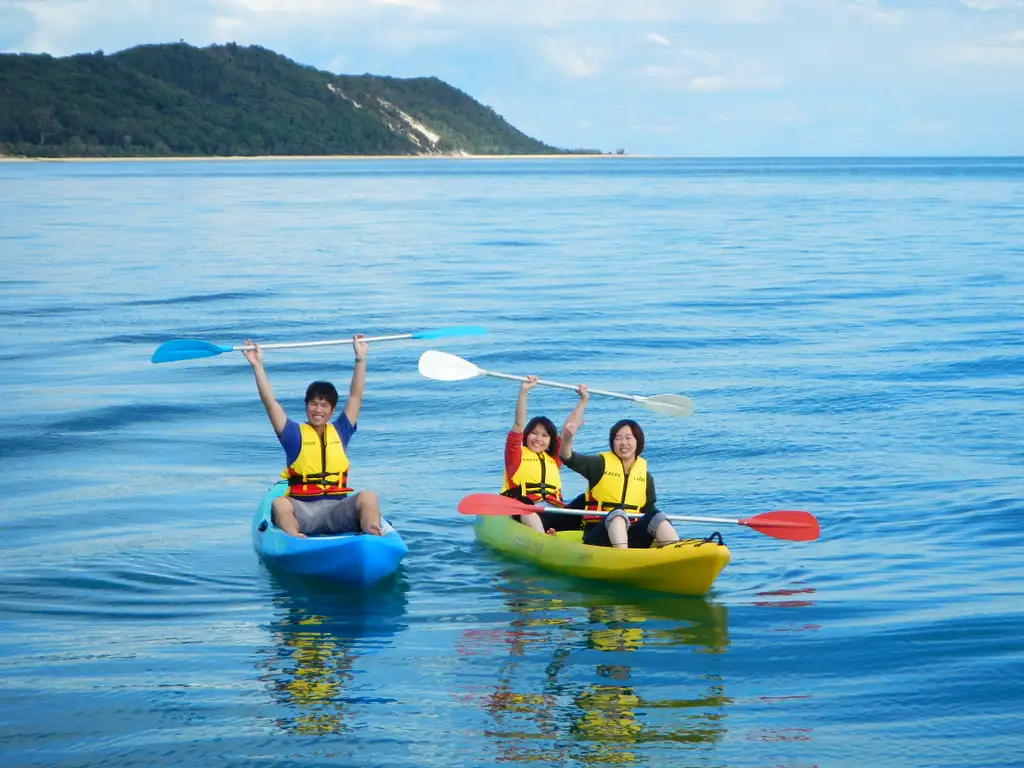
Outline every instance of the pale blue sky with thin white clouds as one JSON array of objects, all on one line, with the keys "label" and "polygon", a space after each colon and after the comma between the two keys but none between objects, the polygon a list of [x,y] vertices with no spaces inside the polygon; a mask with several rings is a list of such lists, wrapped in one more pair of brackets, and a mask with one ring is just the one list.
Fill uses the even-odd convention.
[{"label": "pale blue sky with thin white clouds", "polygon": [[436,76],[567,148],[1024,155],[1024,0],[0,0],[0,51],[184,40]]}]

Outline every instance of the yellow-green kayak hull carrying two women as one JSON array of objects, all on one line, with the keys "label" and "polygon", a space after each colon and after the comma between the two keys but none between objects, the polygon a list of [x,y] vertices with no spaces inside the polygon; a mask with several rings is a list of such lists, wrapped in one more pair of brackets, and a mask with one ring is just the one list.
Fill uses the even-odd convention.
[{"label": "yellow-green kayak hull carrying two women", "polygon": [[555,573],[673,595],[703,595],[729,562],[724,544],[702,539],[657,549],[593,547],[580,531],[539,534],[499,515],[478,515],[473,528],[483,544]]}]

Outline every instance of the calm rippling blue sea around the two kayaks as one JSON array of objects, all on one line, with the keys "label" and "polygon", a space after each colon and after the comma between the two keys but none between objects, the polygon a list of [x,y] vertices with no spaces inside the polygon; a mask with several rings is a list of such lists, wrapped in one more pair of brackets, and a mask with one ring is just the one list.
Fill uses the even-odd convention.
[{"label": "calm rippling blue sea around the two kayaks", "polygon": [[[0,265],[5,768],[1024,765],[1024,159],[0,163]],[[283,582],[248,365],[150,362],[464,324],[488,370],[691,396],[595,397],[578,447],[636,418],[663,508],[820,540],[680,525],[732,550],[705,599],[509,562],[456,505],[516,386],[410,341],[350,444],[399,575]],[[266,353],[294,416],[350,366]]]}]

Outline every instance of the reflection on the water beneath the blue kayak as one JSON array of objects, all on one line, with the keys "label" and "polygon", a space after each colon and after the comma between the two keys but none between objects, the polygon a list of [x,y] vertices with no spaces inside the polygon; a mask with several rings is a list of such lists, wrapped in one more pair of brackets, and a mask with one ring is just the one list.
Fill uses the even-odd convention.
[{"label": "reflection on the water beneath the blue kayak", "polygon": [[260,653],[260,679],[283,707],[275,722],[305,735],[342,733],[359,703],[379,697],[349,692],[361,656],[404,629],[408,586],[399,577],[378,589],[345,592],[271,574],[279,615],[271,647]]}]

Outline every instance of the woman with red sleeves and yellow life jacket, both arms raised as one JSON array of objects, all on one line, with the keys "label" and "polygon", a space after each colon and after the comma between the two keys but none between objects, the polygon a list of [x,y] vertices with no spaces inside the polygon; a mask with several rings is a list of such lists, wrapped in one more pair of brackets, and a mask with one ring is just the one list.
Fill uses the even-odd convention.
[{"label": "woman with red sleeves and yellow life jacket, both arms raised", "polygon": [[[558,458],[558,433],[551,419],[535,416],[526,423],[526,397],[537,386],[537,377],[527,376],[519,385],[519,395],[515,401],[515,421],[505,437],[505,473],[502,482],[504,496],[518,499],[523,504],[542,504],[548,507],[564,507],[562,501],[562,480],[559,475],[561,460]],[[587,404],[586,385],[577,390],[580,402],[569,419],[583,419]],[[579,529],[581,519],[574,515],[557,512],[529,512],[516,515],[517,520],[543,534],[545,530]]]}]

